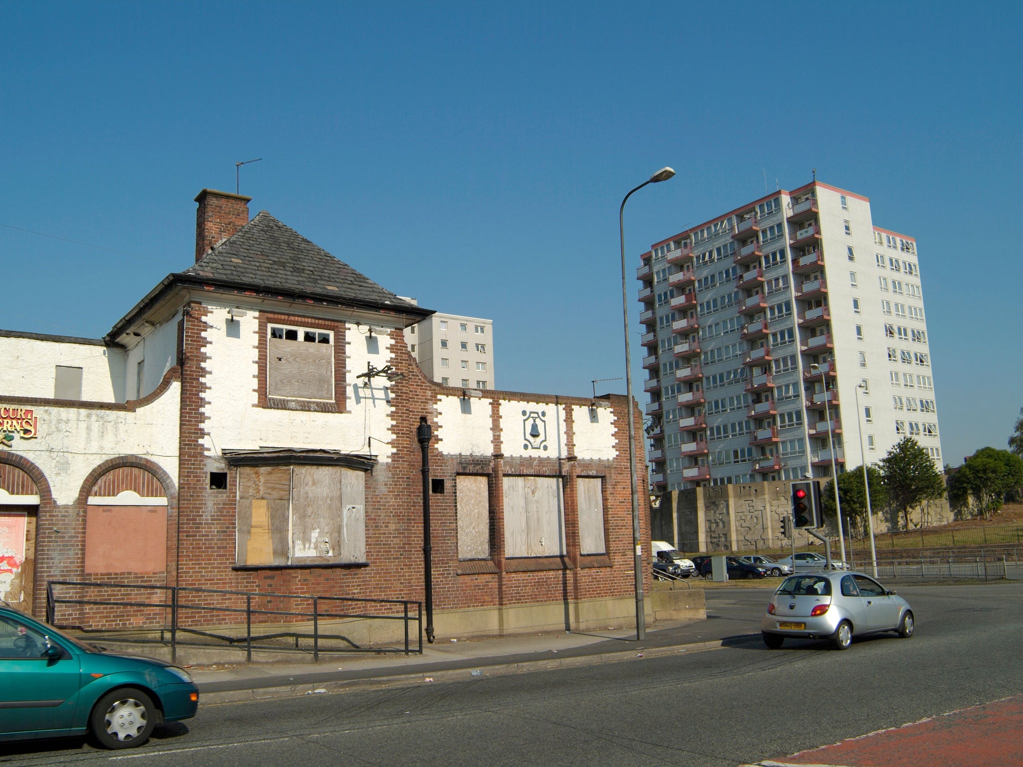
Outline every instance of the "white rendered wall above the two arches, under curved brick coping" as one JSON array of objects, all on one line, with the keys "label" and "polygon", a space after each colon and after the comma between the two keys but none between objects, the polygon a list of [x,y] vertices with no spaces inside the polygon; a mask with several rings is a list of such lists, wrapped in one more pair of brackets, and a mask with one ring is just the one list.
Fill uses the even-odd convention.
[{"label": "white rendered wall above the two arches, under curved brick coping", "polygon": [[125,455],[148,458],[178,482],[181,386],[177,381],[134,412],[45,405],[33,409],[39,437],[15,437],[11,452],[42,469],[57,503],[75,503],[93,468]]}]

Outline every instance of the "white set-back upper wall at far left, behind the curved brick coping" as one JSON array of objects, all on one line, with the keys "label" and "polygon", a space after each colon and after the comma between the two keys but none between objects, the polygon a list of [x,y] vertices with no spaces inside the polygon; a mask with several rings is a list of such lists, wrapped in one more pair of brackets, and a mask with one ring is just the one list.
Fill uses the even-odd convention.
[{"label": "white set-back upper wall at far left, behind the curved brick coping", "polygon": [[8,397],[53,398],[57,365],[82,368],[82,399],[124,401],[125,357],[95,344],[0,337],[4,364],[0,392]]}]

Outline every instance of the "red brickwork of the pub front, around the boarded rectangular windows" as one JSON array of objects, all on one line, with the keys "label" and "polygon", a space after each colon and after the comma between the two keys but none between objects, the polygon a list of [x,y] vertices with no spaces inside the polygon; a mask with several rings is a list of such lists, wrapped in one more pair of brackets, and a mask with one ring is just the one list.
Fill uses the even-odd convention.
[{"label": "red brickwork of the pub front, around the boarded rectangular windows", "polygon": [[[435,403],[441,394],[460,394],[460,389],[440,387],[422,375],[405,347],[400,330],[392,333],[393,364],[405,377],[390,387],[393,406],[391,442],[393,453],[387,463],[377,464],[366,477],[367,566],[332,568],[281,568],[239,570],[234,568],[236,470],[228,470],[226,491],[209,490],[211,465],[203,453],[205,436],[201,409],[208,393],[202,382],[206,361],[202,320],[206,310],[192,305],[185,318],[184,365],[182,369],[182,410],[180,445],[181,556],[178,583],[182,586],[275,591],[369,598],[424,598],[422,583],[422,498],[420,451],[415,428],[426,415],[437,434]],[[298,318],[279,317],[291,324],[308,324]],[[498,398],[516,398],[513,393],[491,393]],[[553,398],[551,398],[553,399]],[[437,440],[430,448],[431,476],[446,481],[447,492],[431,496],[433,521],[434,604],[438,611],[522,604],[560,599],[629,596],[633,588],[632,524],[629,499],[628,455],[624,438],[625,398],[612,397],[618,430],[619,457],[614,460],[577,460],[569,455],[552,458],[505,458],[501,454],[498,404],[492,409],[495,442],[490,456],[442,455]],[[567,398],[561,402],[571,414],[572,405],[588,405],[589,400]],[[637,422],[641,423],[638,412]],[[574,452],[571,415],[567,430],[569,452]],[[642,456],[641,439],[636,439],[637,455]],[[640,467],[641,470],[641,467]],[[490,476],[492,505],[491,548],[496,572],[458,575],[457,524],[454,478],[459,471]],[[566,537],[568,554],[564,560],[546,562],[549,570],[508,572],[503,556],[501,478],[505,472],[561,475],[565,482]],[[605,479],[605,520],[609,556],[586,557],[590,566],[580,567],[578,555],[578,511],[576,476]],[[642,475],[640,475],[642,476]],[[640,492],[643,490],[640,485]],[[640,507],[646,508],[640,498]],[[649,550],[648,514],[640,515],[642,538]],[[169,547],[173,544],[169,544]],[[174,556],[169,553],[169,562]],[[604,567],[599,567],[599,565]],[[170,569],[170,565],[169,565]],[[650,576],[644,572],[648,586]]]}]

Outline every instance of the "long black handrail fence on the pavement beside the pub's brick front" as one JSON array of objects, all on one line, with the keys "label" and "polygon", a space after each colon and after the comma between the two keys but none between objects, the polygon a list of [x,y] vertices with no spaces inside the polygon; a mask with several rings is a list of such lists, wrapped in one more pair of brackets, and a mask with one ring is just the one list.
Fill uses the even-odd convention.
[{"label": "long black handrail fence on the pavement beside the pub's brick front", "polygon": [[[68,587],[78,589],[78,593],[73,596],[61,596],[57,589]],[[85,598],[89,591],[99,590],[100,598]],[[104,593],[113,596],[103,598]],[[120,594],[127,592],[131,595],[138,595],[137,598],[117,598]],[[150,599],[146,592],[155,592],[162,600]],[[243,602],[244,606],[241,606]],[[308,610],[295,608],[296,602],[300,605],[305,603]],[[58,619],[59,605],[78,605],[79,611],[76,623],[60,622]],[[331,605],[355,605],[355,612],[337,612],[338,607]],[[293,608],[286,610],[285,606]],[[105,619],[108,627],[102,627],[104,619],[88,614],[88,607],[115,607],[134,608],[135,615],[128,611],[118,615],[118,620]],[[325,610],[324,610],[325,607]],[[414,607],[414,615],[412,608]],[[138,610],[143,611],[139,617]],[[342,607],[344,610],[344,607]],[[72,611],[75,612],[75,611]],[[227,629],[221,632],[205,631],[202,624],[192,621],[182,621],[185,616],[211,616],[221,614],[229,617],[236,617],[237,622],[228,625]],[[244,616],[244,633],[240,633],[240,616]],[[302,628],[305,625],[311,631],[287,631],[277,630],[268,633],[253,633],[254,618],[257,631],[261,624],[266,624],[267,617],[277,619],[283,626],[288,628]],[[321,620],[364,620],[364,621],[401,621],[404,629],[404,642],[402,647],[392,646],[360,646],[350,637],[343,634],[323,633],[321,631]],[[69,620],[74,620],[69,616]],[[319,661],[321,651],[324,652],[410,652],[422,655],[422,602],[408,599],[367,599],[352,596],[311,596],[308,594],[282,594],[269,591],[230,591],[223,589],[205,589],[186,586],[158,586],[140,585],[131,583],[102,583],[95,581],[48,581],[46,583],[46,621],[51,626],[63,629],[77,629],[87,634],[97,634],[112,641],[128,641],[141,643],[168,643],[171,647],[171,659],[177,659],[177,648],[179,645],[189,646],[238,646],[244,644],[246,660],[252,661],[254,649],[285,650],[292,649],[281,644],[268,644],[268,642],[281,639],[293,639],[294,649],[298,651],[312,652],[313,660]],[[100,627],[93,624],[99,623]],[[415,623],[416,641],[413,645],[410,641],[409,624]],[[310,626],[311,625],[311,626]],[[283,626],[279,628],[283,628]],[[278,628],[278,627],[275,627]],[[234,631],[228,633],[228,629]],[[159,638],[157,634],[159,632]],[[119,638],[119,633],[121,637]],[[131,638],[129,634],[150,634],[153,636]],[[212,641],[182,640],[179,636],[185,634],[190,637],[197,637]],[[311,647],[303,648],[301,641],[311,640]],[[341,642],[339,646],[323,647],[321,642],[332,640]]]}]

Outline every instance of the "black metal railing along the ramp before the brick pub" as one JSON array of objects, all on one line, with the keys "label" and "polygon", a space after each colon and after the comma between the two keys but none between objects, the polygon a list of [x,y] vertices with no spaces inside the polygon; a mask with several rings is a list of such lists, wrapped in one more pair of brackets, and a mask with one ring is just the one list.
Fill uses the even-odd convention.
[{"label": "black metal railing along the ramp before the brick pub", "polygon": [[[46,620],[82,631],[90,640],[169,644],[172,660],[179,645],[243,646],[248,661],[253,650],[311,652],[314,661],[320,652],[422,655],[422,603],[407,599],[49,581]],[[402,623],[400,633],[380,632],[397,636],[401,646],[364,646],[367,642],[354,640],[352,631],[332,633],[353,629],[368,636],[366,626],[381,621]]]}]

